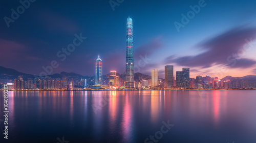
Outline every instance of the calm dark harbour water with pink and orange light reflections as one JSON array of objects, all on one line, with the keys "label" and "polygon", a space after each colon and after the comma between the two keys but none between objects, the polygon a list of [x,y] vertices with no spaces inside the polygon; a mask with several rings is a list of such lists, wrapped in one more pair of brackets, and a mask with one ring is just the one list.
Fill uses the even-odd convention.
[{"label": "calm dark harbour water with pink and orange light reflections", "polygon": [[256,90],[9,91],[7,142],[249,143],[255,133]]}]

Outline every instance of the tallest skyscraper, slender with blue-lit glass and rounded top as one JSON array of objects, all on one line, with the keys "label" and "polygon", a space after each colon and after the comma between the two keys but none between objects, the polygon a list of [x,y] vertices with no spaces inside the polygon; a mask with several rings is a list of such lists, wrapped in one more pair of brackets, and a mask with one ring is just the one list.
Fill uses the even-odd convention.
[{"label": "tallest skyscraper, slender with blue-lit glass and rounded top", "polygon": [[133,19],[127,18],[126,25],[126,62],[125,62],[125,86],[134,87],[134,59],[133,59]]}]

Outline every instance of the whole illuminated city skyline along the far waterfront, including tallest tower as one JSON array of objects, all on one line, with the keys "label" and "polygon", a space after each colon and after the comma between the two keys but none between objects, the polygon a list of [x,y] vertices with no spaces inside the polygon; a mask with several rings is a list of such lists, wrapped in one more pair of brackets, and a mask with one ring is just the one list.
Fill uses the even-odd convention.
[{"label": "whole illuminated city skyline along the far waterfront, including tallest tower", "polygon": [[[136,73],[138,74],[138,73]],[[139,73],[140,74],[140,73]],[[134,47],[133,47],[133,20],[127,18],[126,23],[126,57],[125,73],[118,74],[115,70],[109,75],[102,74],[102,60],[98,56],[95,63],[95,77],[89,79],[37,79],[36,81],[24,81],[22,77],[14,80],[15,90],[24,89],[250,89],[256,88],[256,81],[230,81],[229,79],[219,80],[218,77],[190,78],[189,68],[182,68],[176,71],[174,76],[174,66],[164,67],[164,79],[159,78],[158,69],[152,69],[151,77],[134,79]],[[92,84],[93,83],[93,84]]]}]

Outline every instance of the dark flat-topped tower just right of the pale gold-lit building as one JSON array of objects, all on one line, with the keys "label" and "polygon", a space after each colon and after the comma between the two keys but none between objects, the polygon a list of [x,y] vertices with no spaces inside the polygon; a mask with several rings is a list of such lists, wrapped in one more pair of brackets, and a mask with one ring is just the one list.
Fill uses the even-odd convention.
[{"label": "dark flat-topped tower just right of the pale gold-lit building", "polygon": [[174,86],[174,66],[164,66],[164,87],[171,88]]}]

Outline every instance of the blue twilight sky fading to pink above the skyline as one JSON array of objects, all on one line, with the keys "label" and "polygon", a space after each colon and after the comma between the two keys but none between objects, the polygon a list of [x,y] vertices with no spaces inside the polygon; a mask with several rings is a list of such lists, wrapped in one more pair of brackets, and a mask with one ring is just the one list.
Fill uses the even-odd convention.
[{"label": "blue twilight sky fading to pink above the skyline", "polygon": [[[42,66],[55,60],[59,66],[51,74],[94,76],[100,55],[103,74],[123,73],[126,18],[131,17],[135,73],[151,75],[151,69],[159,69],[164,77],[164,65],[174,65],[175,71],[189,67],[190,78],[256,75],[256,0],[111,2],[117,5],[108,0],[37,0],[25,3],[23,11],[19,1],[1,1],[0,66],[39,75],[45,71]],[[17,8],[18,16],[11,10]],[[62,48],[77,36],[87,38],[61,57]]]}]

